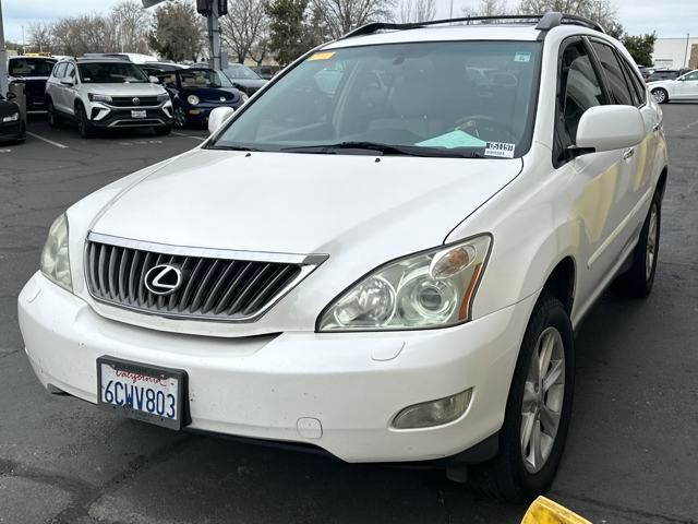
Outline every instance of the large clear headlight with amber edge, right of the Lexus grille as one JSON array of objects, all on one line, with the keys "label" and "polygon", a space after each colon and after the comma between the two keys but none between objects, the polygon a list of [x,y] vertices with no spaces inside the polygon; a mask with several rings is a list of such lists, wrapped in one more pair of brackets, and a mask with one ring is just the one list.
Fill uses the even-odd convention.
[{"label": "large clear headlight with amber edge, right of the Lexus grille", "polygon": [[492,237],[412,254],[371,272],[321,314],[318,331],[444,327],[470,320]]}]

